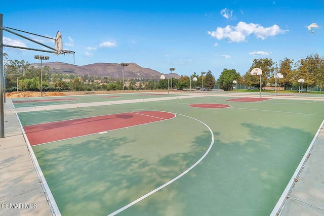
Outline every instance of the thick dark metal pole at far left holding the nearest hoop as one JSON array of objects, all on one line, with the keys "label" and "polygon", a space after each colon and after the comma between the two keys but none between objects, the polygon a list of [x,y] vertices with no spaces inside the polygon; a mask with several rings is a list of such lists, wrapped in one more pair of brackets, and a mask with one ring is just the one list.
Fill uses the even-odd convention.
[{"label": "thick dark metal pole at far left holding the nearest hoop", "polygon": [[0,138],[5,137],[3,14],[0,14]]}]

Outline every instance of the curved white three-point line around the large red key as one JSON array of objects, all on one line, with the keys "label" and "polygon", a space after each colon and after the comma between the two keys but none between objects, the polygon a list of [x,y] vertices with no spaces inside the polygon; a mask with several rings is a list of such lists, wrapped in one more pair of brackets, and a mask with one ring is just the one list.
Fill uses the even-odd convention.
[{"label": "curved white three-point line around the large red key", "polygon": [[[177,115],[182,115],[182,114],[178,114],[178,113],[175,113],[175,114],[177,114]],[[133,202],[131,202],[131,203],[125,205],[124,207],[119,208],[118,210],[116,210],[116,211],[114,211],[114,212],[108,214],[108,216],[113,216],[113,215],[115,215],[115,214],[117,214],[117,213],[120,213],[121,211],[126,210],[127,208],[129,208],[129,207],[135,205],[136,203],[142,201],[143,199],[147,198],[148,196],[154,194],[155,192],[157,192],[157,191],[159,191],[159,190],[161,190],[161,189],[167,187],[167,186],[170,185],[171,183],[177,181],[178,179],[180,179],[181,177],[183,177],[185,174],[187,174],[191,169],[193,169],[196,165],[198,165],[198,163],[200,163],[200,162],[201,162],[201,161],[202,161],[202,160],[207,156],[207,154],[210,152],[210,150],[212,149],[212,147],[213,147],[213,145],[214,145],[214,142],[215,142],[215,141],[214,141],[214,134],[213,134],[212,129],[211,129],[211,128],[206,124],[206,123],[204,123],[204,122],[202,122],[202,121],[200,121],[200,120],[198,120],[198,119],[196,119],[196,118],[193,118],[193,117],[190,117],[190,116],[187,116],[187,115],[182,115],[182,116],[185,116],[185,117],[188,117],[188,118],[194,119],[194,120],[196,120],[196,121],[199,121],[200,123],[204,124],[204,125],[209,129],[209,131],[210,131],[210,133],[211,133],[211,135],[212,135],[212,142],[211,142],[211,144],[209,145],[209,147],[208,147],[207,151],[205,152],[205,154],[204,154],[204,155],[203,155],[199,160],[197,160],[193,165],[191,165],[188,169],[186,169],[184,172],[182,172],[182,174],[180,174],[179,176],[177,176],[177,177],[175,177],[174,179],[170,180],[169,182],[167,182],[167,183],[165,183],[165,184],[159,186],[158,188],[152,190],[151,192],[149,192],[149,193],[147,193],[147,194],[141,196],[140,198],[134,200]]]}]

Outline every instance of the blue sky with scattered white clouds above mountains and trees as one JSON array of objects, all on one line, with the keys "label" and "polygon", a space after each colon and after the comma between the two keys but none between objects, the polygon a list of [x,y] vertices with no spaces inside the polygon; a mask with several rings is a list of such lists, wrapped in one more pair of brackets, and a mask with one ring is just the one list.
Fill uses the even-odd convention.
[{"label": "blue sky with scattered white clouds above mountains and trees", "polygon": [[[223,68],[241,75],[255,58],[324,56],[324,0],[310,1],[7,1],[3,26],[55,38],[75,65],[134,62],[180,75]],[[44,49],[4,31],[4,44]],[[23,35],[54,47],[54,40]],[[11,59],[73,64],[73,55],[4,47]]]}]

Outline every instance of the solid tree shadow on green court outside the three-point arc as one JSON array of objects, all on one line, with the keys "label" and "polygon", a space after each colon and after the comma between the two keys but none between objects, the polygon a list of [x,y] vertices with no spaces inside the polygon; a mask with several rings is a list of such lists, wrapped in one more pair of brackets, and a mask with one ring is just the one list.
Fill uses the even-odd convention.
[{"label": "solid tree shadow on green court outside the three-point arc", "polygon": [[180,214],[270,214],[314,134],[287,126],[241,126],[249,129],[246,140],[215,140],[210,154],[181,179],[174,198],[184,206]]}]

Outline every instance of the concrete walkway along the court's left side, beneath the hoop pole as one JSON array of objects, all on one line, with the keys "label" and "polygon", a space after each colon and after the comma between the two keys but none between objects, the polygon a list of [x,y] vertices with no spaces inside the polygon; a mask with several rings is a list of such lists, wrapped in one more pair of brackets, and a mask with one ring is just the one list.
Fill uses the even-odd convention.
[{"label": "concrete walkway along the court's left side, beneath the hoop pole", "polygon": [[0,215],[52,215],[11,100],[4,104],[0,139]]}]

